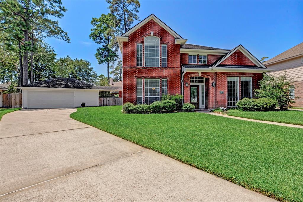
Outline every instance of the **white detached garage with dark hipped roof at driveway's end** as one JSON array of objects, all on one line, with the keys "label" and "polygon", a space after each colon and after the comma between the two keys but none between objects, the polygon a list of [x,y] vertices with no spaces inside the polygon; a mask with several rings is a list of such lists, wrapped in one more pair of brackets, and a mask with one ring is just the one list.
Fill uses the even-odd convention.
[{"label": "white detached garage with dark hipped roof at driveway's end", "polygon": [[99,88],[72,78],[56,78],[29,83],[16,88],[22,89],[22,107],[74,108],[99,105]]}]

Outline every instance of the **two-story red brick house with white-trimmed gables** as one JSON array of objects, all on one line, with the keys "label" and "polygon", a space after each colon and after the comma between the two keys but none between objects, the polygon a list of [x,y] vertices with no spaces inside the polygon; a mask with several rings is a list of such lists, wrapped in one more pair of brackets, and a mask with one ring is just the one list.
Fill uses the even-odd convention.
[{"label": "two-story red brick house with white-trimmed gables", "polygon": [[123,103],[150,104],[165,94],[183,94],[197,109],[235,106],[254,97],[269,70],[242,45],[219,49],[186,44],[150,15],[117,36],[123,61]]}]

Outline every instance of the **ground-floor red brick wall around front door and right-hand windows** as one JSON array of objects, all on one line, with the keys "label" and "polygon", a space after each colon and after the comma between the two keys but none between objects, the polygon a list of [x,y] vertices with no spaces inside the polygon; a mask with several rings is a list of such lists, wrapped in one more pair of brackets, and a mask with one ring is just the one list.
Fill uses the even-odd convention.
[{"label": "ground-floor red brick wall around front door and right-hand windows", "polygon": [[[184,75],[184,102],[190,102],[190,85],[185,86],[186,82],[190,84],[190,77],[199,76],[198,72],[186,72]],[[252,90],[259,88],[259,81],[262,79],[262,73],[244,73],[244,72],[201,72],[201,76],[205,77],[205,108],[215,109],[218,107],[227,107],[227,77],[239,77],[239,99],[241,98],[241,76],[252,77]],[[212,82],[216,82],[216,86],[212,87]],[[223,94],[220,94],[223,91]]]}]

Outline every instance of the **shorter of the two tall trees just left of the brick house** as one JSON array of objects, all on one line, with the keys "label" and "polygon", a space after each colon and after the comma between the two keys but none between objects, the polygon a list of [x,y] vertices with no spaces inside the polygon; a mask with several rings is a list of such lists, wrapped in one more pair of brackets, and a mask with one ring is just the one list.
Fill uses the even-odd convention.
[{"label": "shorter of the two tall trees just left of the brick house", "polygon": [[91,24],[94,28],[91,29],[89,38],[101,45],[95,56],[99,64],[107,63],[107,79],[109,80],[109,63],[118,58],[115,51],[118,46],[115,39],[118,21],[114,15],[108,13],[102,14],[100,18],[93,18]]}]

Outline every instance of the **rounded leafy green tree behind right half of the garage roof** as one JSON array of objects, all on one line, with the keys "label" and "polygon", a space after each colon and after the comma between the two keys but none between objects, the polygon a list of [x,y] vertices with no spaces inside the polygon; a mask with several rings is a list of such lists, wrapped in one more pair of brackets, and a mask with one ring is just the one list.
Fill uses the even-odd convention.
[{"label": "rounded leafy green tree behind right half of the garage roof", "polygon": [[90,84],[96,83],[97,73],[87,60],[66,56],[58,59],[55,66],[56,77],[75,78]]}]

